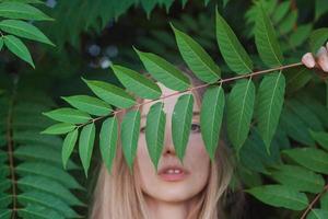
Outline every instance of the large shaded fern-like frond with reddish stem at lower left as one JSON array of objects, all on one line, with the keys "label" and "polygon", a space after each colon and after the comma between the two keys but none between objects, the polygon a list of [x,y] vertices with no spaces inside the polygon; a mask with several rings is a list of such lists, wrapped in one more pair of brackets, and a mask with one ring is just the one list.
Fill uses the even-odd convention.
[{"label": "large shaded fern-like frond with reddish stem at lower left", "polygon": [[54,103],[16,95],[1,96],[0,218],[81,218],[73,207],[85,204],[73,191],[85,188],[71,175],[80,166],[68,160],[65,171],[61,138],[39,135],[50,124],[40,112]]}]

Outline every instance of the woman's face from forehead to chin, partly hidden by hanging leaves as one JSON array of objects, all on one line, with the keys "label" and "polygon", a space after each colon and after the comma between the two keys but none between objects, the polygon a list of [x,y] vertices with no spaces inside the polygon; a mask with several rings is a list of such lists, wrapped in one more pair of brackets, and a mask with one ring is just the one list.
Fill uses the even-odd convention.
[{"label": "woman's face from forehead to chin, partly hidden by hanging leaves", "polygon": [[[163,87],[161,83],[157,84],[162,89],[163,95],[168,95],[169,93],[175,92]],[[166,114],[166,125],[163,151],[159,161],[159,172],[163,166],[172,164],[183,166],[188,172],[188,174],[186,174],[183,178],[179,178],[179,176],[177,175],[169,175],[172,173],[168,172],[164,177],[162,175],[159,175],[148,153],[144,131],[140,131],[138,141],[138,152],[136,160],[139,165],[141,188],[143,193],[145,193],[150,197],[164,201],[184,201],[194,197],[206,186],[210,172],[210,158],[207,154],[201,138],[201,132],[199,129],[199,115],[196,114],[192,118],[194,125],[191,126],[190,136],[186,148],[184,165],[179,162],[179,159],[175,153],[172,140],[171,119],[175,103],[180,95],[183,94],[173,95],[171,97],[162,100],[164,101],[163,111]],[[141,115],[144,115],[144,117],[141,118],[141,128],[145,127],[148,112],[151,105],[153,105],[154,103],[155,102],[152,102],[142,106]],[[199,112],[200,108],[197,105],[195,99],[194,113]],[[175,180],[173,181],[172,178]]]}]

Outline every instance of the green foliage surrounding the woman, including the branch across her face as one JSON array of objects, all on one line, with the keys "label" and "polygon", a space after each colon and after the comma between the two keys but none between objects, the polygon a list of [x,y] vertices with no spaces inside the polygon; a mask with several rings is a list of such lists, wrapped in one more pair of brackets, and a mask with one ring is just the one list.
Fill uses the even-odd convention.
[{"label": "green foliage surrounding the woman, including the branch across her face", "polygon": [[[10,4],[8,2],[0,4]],[[150,20],[138,20],[137,27],[133,23],[137,16],[133,13],[138,8],[131,7],[138,3],[132,0],[115,4],[112,1],[84,1],[83,4],[78,1],[58,1],[54,9],[39,1],[20,2],[17,4],[25,8],[17,7],[17,11],[26,12],[26,7],[36,10],[37,7],[55,18],[56,23],[48,22],[51,19],[47,16],[46,22],[39,23],[38,27],[56,42],[60,50],[55,47],[33,50],[38,60],[39,71],[26,70],[24,66],[14,62],[15,68],[19,66],[15,72],[8,68],[11,66],[8,59],[2,61],[5,68],[1,67],[1,72],[8,72],[8,76],[17,73],[24,79],[20,85],[46,88],[44,92],[49,96],[37,104],[32,102],[36,108],[34,111],[31,105],[24,105],[31,101],[24,101],[21,106],[23,102],[19,99],[24,92],[15,92],[5,80],[0,80],[1,89],[3,88],[0,94],[5,93],[2,94],[0,107],[1,115],[5,115],[2,116],[4,123],[1,123],[0,137],[0,146],[3,146],[0,147],[0,155],[4,158],[0,157],[0,169],[4,170],[4,174],[0,174],[3,178],[0,182],[0,188],[3,188],[0,192],[0,209],[5,209],[5,217],[0,215],[0,218],[9,218],[11,214],[19,215],[20,218],[46,218],[43,215],[36,216],[45,211],[52,214],[54,218],[85,216],[86,206],[80,199],[86,199],[87,194],[77,195],[80,192],[85,193],[85,188],[72,177],[75,176],[73,173],[84,172],[87,181],[93,184],[96,178],[93,170],[99,157],[110,172],[117,150],[118,131],[122,135],[124,157],[132,170],[140,130],[140,113],[134,110],[126,114],[121,130],[118,129],[116,114],[122,108],[136,105],[136,96],[152,101],[161,97],[162,92],[154,81],[184,93],[175,105],[176,116],[172,117],[174,146],[183,162],[195,104],[192,95],[186,92],[197,88],[190,87],[188,78],[176,67],[179,60],[184,60],[195,76],[207,84],[200,127],[211,160],[218,150],[222,125],[227,125],[227,138],[237,159],[231,188],[239,189],[236,182],[241,182],[247,194],[260,200],[257,203],[247,196],[258,212],[258,216],[249,217],[327,217],[328,110],[325,104],[328,102],[325,103],[327,97],[325,100],[323,94],[328,91],[328,83],[323,82],[324,78],[317,77],[298,62],[302,54],[309,49],[316,51],[328,38],[325,26],[328,10],[325,9],[324,1],[304,3],[301,0],[260,0],[254,4],[246,1],[220,1],[226,8],[223,9],[222,4],[219,4],[214,13],[211,9],[215,8],[215,3],[204,1],[201,2],[202,12],[195,14],[192,7],[197,3],[191,4],[184,0],[177,3],[178,12],[184,10],[186,13],[172,16],[166,12],[163,15],[169,18],[169,22],[163,16],[155,18],[161,13],[160,10],[156,11],[155,5],[165,4],[167,10],[174,12],[177,9],[173,1],[140,1],[148,14],[153,11],[152,16],[155,19],[152,20],[149,14]],[[180,3],[184,9],[180,9]],[[203,8],[203,4],[213,7]],[[315,10],[312,12],[313,18],[308,19],[304,16],[304,9],[308,10],[311,7]],[[67,11],[68,9],[70,10]],[[110,13],[107,13],[108,9]],[[128,9],[128,13],[122,16]],[[232,13],[236,9],[242,9],[245,13]],[[86,11],[90,12],[87,15]],[[0,21],[1,32],[8,33],[5,37],[12,39],[11,42],[25,37],[52,45],[51,41],[33,25],[34,21],[38,21],[39,14],[34,11],[28,18],[25,15],[26,13],[14,13],[11,18],[5,18],[10,20]],[[116,23],[110,22],[113,19]],[[243,19],[246,20],[246,24],[241,24]],[[25,22],[26,20],[30,22]],[[210,25],[209,21],[215,22],[215,25]],[[12,23],[16,28],[8,27]],[[112,28],[119,25],[122,25],[122,30]],[[74,27],[71,28],[72,26]],[[169,26],[172,33],[167,32]],[[19,27],[23,27],[23,31],[17,31]],[[113,41],[106,35],[108,30],[110,36],[117,33],[119,42],[124,42],[122,48],[119,48],[119,56],[110,57],[110,61],[115,64],[109,65],[109,79],[108,74],[105,74],[108,70],[103,73],[104,71],[97,72],[99,69],[85,68],[85,62],[90,60],[82,54],[85,41],[95,38],[106,42],[103,45]],[[124,41],[125,37],[121,36],[127,30],[131,42]],[[149,32],[142,33],[140,30]],[[199,33],[199,30],[203,30],[203,33]],[[80,50],[74,50],[65,42]],[[8,44],[10,45],[10,42]],[[17,44],[20,43],[15,45]],[[131,53],[131,44],[137,45],[138,48],[133,47],[136,53]],[[306,47],[307,44],[309,48]],[[0,45],[2,47],[1,42]],[[222,58],[214,49],[218,47]],[[26,55],[30,55],[27,47],[25,49],[25,46],[21,45],[15,48],[12,53],[16,51],[23,60],[33,64],[32,58]],[[176,49],[179,53],[176,53]],[[141,61],[136,61],[136,57]],[[140,68],[140,64],[144,68]],[[81,70],[80,66],[84,68]],[[139,73],[144,70],[150,77]],[[82,80],[79,80],[81,71],[93,73],[83,73]],[[40,77],[44,80],[39,80]],[[13,78],[15,80],[15,77]],[[79,81],[83,82],[82,85]],[[14,94],[8,95],[7,91],[11,90]],[[31,90],[27,92],[34,93]],[[70,106],[49,105],[46,100],[50,100],[50,96],[61,96],[58,101]],[[56,110],[50,111],[50,107]],[[17,115],[16,108],[21,112]],[[31,114],[26,111],[31,111]],[[56,123],[46,120],[39,115],[40,112]],[[163,150],[165,118],[163,102],[153,104],[147,115],[145,137],[154,169],[157,169]],[[16,129],[16,123],[21,124],[20,129]],[[23,131],[27,128],[31,131]],[[5,137],[8,134],[10,138]],[[65,135],[63,140],[56,135]],[[38,147],[40,143],[43,147]],[[61,150],[58,150],[61,145]],[[46,150],[45,146],[48,147]],[[50,150],[51,157],[47,153]],[[75,162],[81,162],[83,170]],[[20,171],[21,165],[25,171]],[[16,176],[17,181],[12,181],[12,176]],[[22,184],[23,186],[20,186]],[[91,191],[87,188],[87,192]],[[47,205],[50,200],[56,204]],[[263,206],[265,215],[260,215]],[[0,211],[2,214],[2,210]]]}]

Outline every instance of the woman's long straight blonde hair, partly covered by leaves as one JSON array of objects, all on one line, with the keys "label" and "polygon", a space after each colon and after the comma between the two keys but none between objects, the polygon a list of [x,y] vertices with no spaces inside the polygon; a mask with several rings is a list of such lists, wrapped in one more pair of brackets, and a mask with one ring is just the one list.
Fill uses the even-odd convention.
[{"label": "woman's long straight blonde hair, partly covered by leaves", "polygon": [[[186,70],[185,72],[187,72],[191,79],[192,85],[201,83],[190,72]],[[203,91],[204,90],[194,92],[199,106]],[[141,102],[140,99],[137,100]],[[119,126],[127,110],[116,115]],[[215,152],[214,163],[211,162],[210,169],[208,184],[198,194],[198,203],[188,214],[187,219],[225,218],[222,204],[233,174],[233,165],[231,153],[222,138],[220,139]],[[129,171],[121,151],[120,135],[118,135],[117,154],[114,159],[112,174],[109,174],[103,162],[101,164],[90,218],[150,219],[140,186],[138,170],[138,162],[134,160],[133,173],[131,174]]]}]

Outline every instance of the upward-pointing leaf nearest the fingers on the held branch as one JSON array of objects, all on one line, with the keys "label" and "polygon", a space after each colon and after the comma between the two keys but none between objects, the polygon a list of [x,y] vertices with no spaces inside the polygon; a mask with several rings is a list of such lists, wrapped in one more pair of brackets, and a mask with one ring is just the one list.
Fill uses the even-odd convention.
[{"label": "upward-pointing leaf nearest the fingers on the held branch", "polygon": [[283,62],[282,53],[274,28],[261,4],[256,20],[255,43],[262,61],[269,67],[281,66]]}]

